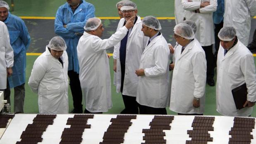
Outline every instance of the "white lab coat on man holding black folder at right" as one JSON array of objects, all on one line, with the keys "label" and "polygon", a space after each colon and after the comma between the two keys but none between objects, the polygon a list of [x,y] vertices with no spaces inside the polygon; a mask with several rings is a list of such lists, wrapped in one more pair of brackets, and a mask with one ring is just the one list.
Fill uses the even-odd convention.
[{"label": "white lab coat on man holding black folder at right", "polygon": [[217,59],[216,106],[225,116],[249,116],[253,107],[236,109],[231,90],[246,83],[247,100],[256,101],[256,74],[254,57],[238,40],[224,56],[223,47],[219,48]]}]

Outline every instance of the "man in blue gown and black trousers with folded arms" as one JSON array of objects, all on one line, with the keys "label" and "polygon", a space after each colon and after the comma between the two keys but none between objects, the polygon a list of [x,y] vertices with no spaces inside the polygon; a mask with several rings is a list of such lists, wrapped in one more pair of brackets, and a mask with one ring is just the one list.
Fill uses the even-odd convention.
[{"label": "man in blue gown and black trousers with folded arms", "polygon": [[94,12],[94,6],[85,0],[67,0],[64,5],[59,7],[56,13],[55,33],[60,35],[67,45],[69,85],[74,106],[72,113],[83,113],[77,43],[84,33],[87,19],[95,17]]}]

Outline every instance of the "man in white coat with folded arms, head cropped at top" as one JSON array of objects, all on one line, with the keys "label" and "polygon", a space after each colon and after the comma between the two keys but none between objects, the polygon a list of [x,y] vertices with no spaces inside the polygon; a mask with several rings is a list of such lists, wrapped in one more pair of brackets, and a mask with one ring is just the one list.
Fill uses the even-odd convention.
[{"label": "man in white coat with folded arms, head cropped at top", "polygon": [[185,18],[196,23],[197,31],[195,38],[200,42],[207,61],[207,83],[210,86],[215,85],[214,77],[214,56],[213,44],[214,25],[213,12],[217,9],[217,0],[182,0],[182,6],[186,10]]}]

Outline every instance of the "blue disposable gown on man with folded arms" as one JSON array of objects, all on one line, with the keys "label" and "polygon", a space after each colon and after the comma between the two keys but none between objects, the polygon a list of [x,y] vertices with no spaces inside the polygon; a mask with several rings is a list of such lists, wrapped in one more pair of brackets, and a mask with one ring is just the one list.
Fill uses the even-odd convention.
[{"label": "blue disposable gown on man with folded arms", "polygon": [[[94,12],[94,6],[85,2],[85,0],[79,5],[74,14],[67,2],[57,10],[54,28],[55,33],[60,35],[66,42],[69,60],[68,70],[74,70],[79,73],[77,44],[79,38],[84,33],[87,19],[95,17]],[[65,24],[67,25],[66,28],[63,26]]]}]

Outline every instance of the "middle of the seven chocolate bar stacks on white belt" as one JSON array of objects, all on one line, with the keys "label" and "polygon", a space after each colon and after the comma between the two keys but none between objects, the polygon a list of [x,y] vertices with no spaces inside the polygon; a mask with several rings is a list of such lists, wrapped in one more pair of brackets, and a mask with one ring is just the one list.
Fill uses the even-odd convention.
[{"label": "middle of the seven chocolate bar stacks on white belt", "polygon": [[103,142],[100,144],[121,144],[124,143],[124,135],[132,125],[131,120],[136,119],[136,115],[117,115],[116,118],[111,118],[106,132],[103,135]]}]

